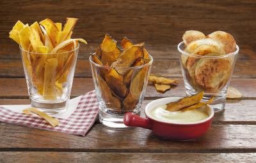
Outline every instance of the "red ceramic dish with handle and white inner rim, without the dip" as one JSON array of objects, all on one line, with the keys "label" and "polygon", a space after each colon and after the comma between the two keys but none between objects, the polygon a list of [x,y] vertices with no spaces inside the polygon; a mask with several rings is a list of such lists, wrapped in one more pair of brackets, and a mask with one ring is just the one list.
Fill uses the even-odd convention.
[{"label": "red ceramic dish with handle and white inner rim, without the dip", "polygon": [[204,135],[211,126],[214,117],[214,111],[209,106],[203,106],[205,113],[208,117],[198,122],[189,123],[170,123],[164,120],[159,120],[152,117],[149,113],[152,109],[163,104],[168,104],[173,101],[179,100],[180,97],[166,97],[157,99],[147,104],[145,108],[146,118],[142,118],[132,113],[126,113],[124,116],[124,124],[130,127],[142,127],[150,129],[162,138],[175,139],[175,140],[188,140],[196,139]]}]

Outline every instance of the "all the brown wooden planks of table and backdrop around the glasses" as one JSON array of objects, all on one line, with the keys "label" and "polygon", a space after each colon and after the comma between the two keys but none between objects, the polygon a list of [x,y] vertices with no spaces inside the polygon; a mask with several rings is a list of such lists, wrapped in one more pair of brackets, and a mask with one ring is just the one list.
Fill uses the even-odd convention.
[{"label": "all the brown wooden planks of table and backdrop around the glasses", "polygon": [[148,85],[145,104],[160,97],[185,96],[177,43],[186,30],[230,32],[240,46],[231,85],[243,93],[227,100],[209,132],[195,141],[166,141],[147,129],[110,130],[97,123],[74,136],[0,123],[0,162],[255,162],[256,161],[256,2],[255,1],[1,1],[0,104],[28,104],[19,47],[8,38],[17,20],[31,24],[77,17],[79,52],[72,97],[93,90],[88,55],[108,32],[145,41],[154,57],[152,73],[179,79],[159,94]]}]

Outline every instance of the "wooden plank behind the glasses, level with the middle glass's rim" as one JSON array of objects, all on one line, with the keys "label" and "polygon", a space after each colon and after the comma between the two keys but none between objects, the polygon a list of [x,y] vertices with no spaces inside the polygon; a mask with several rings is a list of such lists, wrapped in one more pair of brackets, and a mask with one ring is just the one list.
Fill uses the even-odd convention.
[{"label": "wooden plank behind the glasses, level with the middle glass's rim", "polygon": [[[0,60],[0,77],[24,77],[22,62],[19,59]],[[256,78],[256,60],[237,60],[233,78]],[[162,76],[182,77],[178,59],[154,59],[152,73]],[[92,77],[88,59],[77,60],[75,77]]]}]

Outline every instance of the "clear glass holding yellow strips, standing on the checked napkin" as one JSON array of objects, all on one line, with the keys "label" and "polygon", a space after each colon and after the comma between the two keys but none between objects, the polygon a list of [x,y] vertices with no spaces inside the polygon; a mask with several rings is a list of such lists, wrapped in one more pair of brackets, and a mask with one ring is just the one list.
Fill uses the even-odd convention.
[{"label": "clear glass holding yellow strips, standing on the checked napkin", "polygon": [[59,51],[35,53],[20,47],[31,106],[48,114],[66,111],[79,45],[71,51]]}]

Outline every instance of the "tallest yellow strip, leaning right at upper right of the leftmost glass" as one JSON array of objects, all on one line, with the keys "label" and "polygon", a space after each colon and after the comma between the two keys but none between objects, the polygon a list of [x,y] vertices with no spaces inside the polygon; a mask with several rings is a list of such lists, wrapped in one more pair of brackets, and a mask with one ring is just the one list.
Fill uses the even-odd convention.
[{"label": "tallest yellow strip, leaning right at upper right of the leftmost glass", "polygon": [[[67,22],[61,31],[60,38],[58,38],[58,44],[68,39],[70,32],[74,29],[77,22],[77,18],[67,18]],[[70,35],[71,36],[71,35]]]}]

